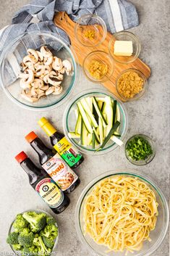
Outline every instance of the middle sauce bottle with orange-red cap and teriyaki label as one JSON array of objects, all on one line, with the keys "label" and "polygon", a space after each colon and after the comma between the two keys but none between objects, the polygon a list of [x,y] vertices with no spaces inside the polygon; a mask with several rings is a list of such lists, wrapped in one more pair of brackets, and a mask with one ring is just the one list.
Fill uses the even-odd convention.
[{"label": "middle sauce bottle with orange-red cap and teriyaki label", "polygon": [[69,165],[64,162],[59,153],[48,149],[33,131],[28,133],[25,139],[38,153],[43,169],[59,185],[60,189],[66,193],[75,190],[80,184],[80,178],[69,168]]}]

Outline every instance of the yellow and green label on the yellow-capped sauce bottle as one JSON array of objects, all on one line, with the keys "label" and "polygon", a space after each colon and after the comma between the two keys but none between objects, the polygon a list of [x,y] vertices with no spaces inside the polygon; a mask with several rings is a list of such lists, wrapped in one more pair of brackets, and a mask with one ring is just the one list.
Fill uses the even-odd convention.
[{"label": "yellow and green label on the yellow-capped sauce bottle", "polygon": [[77,149],[67,141],[66,137],[62,138],[57,144],[55,144],[54,149],[56,149],[70,167],[75,165],[82,158],[82,154],[77,152]]}]

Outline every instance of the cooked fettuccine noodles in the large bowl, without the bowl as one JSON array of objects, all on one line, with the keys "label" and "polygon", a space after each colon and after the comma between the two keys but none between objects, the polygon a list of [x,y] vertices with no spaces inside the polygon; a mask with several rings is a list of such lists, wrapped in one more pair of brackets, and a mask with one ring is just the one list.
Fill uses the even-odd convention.
[{"label": "cooked fettuccine noodles in the large bowl, without the bowl", "polygon": [[137,178],[112,176],[99,181],[85,199],[85,233],[115,252],[140,250],[156,226],[154,192]]}]

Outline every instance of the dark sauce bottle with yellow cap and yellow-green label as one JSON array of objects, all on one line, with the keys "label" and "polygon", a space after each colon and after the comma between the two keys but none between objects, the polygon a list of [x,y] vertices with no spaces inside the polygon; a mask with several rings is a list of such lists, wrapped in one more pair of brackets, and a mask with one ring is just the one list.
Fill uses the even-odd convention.
[{"label": "dark sauce bottle with yellow cap and yellow-green label", "polygon": [[52,146],[54,146],[54,149],[56,149],[64,161],[67,162],[69,167],[74,169],[82,163],[84,160],[82,154],[77,152],[77,149],[75,149],[75,147],[73,147],[72,144],[67,141],[64,134],[56,131],[54,126],[48,122],[46,117],[42,117],[38,121],[38,125],[40,125],[43,131],[45,131],[45,133],[50,137]]}]

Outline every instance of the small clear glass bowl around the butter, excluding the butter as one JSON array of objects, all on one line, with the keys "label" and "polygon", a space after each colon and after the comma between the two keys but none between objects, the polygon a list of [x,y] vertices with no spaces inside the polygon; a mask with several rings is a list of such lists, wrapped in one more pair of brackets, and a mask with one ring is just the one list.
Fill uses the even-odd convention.
[{"label": "small clear glass bowl around the butter, excluding the butter", "polygon": [[[133,54],[132,56],[116,56],[114,55],[114,43],[115,41],[132,41],[133,45]],[[114,58],[116,62],[122,64],[128,64],[134,62],[135,59],[140,54],[140,41],[132,32],[129,31],[121,31],[118,33],[114,33],[111,40],[109,41],[109,53]]]}]

